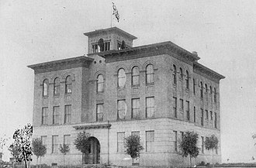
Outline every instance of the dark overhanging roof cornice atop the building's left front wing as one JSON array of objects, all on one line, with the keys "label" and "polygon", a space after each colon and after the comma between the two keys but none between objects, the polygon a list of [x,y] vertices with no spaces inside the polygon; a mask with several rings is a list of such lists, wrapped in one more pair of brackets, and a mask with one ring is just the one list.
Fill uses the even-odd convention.
[{"label": "dark overhanging roof cornice atop the building's left front wing", "polygon": [[40,74],[44,72],[50,72],[54,70],[65,70],[71,69],[74,67],[89,67],[89,63],[92,62],[92,58],[81,56],[73,57],[64,60],[54,60],[45,63],[36,63],[29,65],[27,67],[34,70],[35,74]]}]

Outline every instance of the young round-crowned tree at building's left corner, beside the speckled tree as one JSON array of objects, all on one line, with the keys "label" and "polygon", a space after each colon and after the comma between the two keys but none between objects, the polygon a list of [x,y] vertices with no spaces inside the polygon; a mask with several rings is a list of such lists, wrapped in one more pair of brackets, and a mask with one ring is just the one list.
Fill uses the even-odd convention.
[{"label": "young round-crowned tree at building's left corner, beside the speckled tree", "polygon": [[36,167],[38,167],[38,158],[44,156],[47,153],[47,148],[43,146],[41,139],[33,139],[32,151],[36,155]]}]

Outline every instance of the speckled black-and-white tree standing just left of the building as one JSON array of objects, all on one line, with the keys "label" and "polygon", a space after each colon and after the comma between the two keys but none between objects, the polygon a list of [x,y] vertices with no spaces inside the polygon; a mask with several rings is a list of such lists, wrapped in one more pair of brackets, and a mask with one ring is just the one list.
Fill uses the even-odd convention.
[{"label": "speckled black-and-white tree standing just left of the building", "polygon": [[[19,155],[16,156],[16,160],[19,162],[24,161],[27,168],[27,162],[31,161],[32,149],[31,149],[31,137],[33,133],[33,127],[31,124],[27,124],[22,129],[16,129],[12,139],[14,142],[10,146],[11,149],[18,148]],[[15,147],[16,146],[16,147]]]}]

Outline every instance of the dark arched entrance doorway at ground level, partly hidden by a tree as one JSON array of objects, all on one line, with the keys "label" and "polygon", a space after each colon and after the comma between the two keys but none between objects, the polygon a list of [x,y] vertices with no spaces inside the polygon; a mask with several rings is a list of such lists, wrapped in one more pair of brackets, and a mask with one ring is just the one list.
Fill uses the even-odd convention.
[{"label": "dark arched entrance doorway at ground level, partly hidden by a tree", "polygon": [[100,144],[99,140],[95,137],[89,137],[88,143],[88,153],[83,155],[83,163],[84,164],[98,164],[100,159]]}]

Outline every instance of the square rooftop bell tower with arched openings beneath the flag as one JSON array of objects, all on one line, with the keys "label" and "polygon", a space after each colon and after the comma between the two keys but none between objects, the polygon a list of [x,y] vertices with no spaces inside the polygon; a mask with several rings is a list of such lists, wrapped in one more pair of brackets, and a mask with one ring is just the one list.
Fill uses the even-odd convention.
[{"label": "square rooftop bell tower with arched openings beneath the flag", "polygon": [[84,35],[88,36],[88,54],[130,48],[133,47],[133,39],[137,39],[117,27],[96,29]]}]

